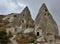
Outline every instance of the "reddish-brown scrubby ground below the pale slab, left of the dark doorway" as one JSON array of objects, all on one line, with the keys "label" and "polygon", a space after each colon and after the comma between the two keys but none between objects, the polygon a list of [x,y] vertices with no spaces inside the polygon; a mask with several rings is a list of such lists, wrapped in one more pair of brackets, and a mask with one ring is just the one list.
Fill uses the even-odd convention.
[{"label": "reddish-brown scrubby ground below the pale slab, left of the dark doorway", "polygon": [[31,39],[36,40],[36,36],[33,34],[19,34],[16,37],[16,40],[19,44],[28,44],[30,43]]}]

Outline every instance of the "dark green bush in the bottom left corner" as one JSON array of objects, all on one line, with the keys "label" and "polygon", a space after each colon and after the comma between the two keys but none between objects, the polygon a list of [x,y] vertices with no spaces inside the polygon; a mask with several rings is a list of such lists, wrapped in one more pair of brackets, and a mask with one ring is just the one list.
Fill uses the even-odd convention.
[{"label": "dark green bush in the bottom left corner", "polygon": [[8,44],[9,37],[5,31],[0,31],[0,43],[1,44]]}]

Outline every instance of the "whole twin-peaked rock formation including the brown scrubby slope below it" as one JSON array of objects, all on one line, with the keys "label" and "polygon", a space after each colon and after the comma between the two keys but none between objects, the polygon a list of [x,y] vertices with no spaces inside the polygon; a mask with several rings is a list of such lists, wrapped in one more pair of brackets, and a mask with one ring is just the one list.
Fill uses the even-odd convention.
[{"label": "whole twin-peaked rock formation including the brown scrubby slope below it", "polygon": [[13,35],[11,41],[14,42],[16,39],[19,44],[25,44],[25,42],[28,44],[31,37],[36,42],[50,41],[53,44],[54,35],[58,34],[57,24],[45,4],[42,4],[35,21],[31,18],[28,7],[25,7],[21,13],[0,16],[0,19],[0,30],[6,30],[7,35]]}]

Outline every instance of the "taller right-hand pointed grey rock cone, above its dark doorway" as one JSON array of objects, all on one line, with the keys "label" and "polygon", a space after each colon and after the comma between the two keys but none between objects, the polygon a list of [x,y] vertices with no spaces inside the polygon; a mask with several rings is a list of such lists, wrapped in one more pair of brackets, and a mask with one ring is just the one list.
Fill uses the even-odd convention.
[{"label": "taller right-hand pointed grey rock cone, above its dark doorway", "polygon": [[41,28],[44,34],[52,33],[58,34],[58,27],[56,22],[53,20],[52,15],[49,13],[46,5],[43,3],[38,15],[35,19],[35,29]]}]

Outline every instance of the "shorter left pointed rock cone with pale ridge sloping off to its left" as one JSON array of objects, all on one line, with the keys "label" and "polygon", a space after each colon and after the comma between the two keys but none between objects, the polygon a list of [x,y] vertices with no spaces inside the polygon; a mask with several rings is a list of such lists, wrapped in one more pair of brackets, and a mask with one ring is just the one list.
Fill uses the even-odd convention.
[{"label": "shorter left pointed rock cone with pale ridge sloping off to its left", "polygon": [[3,18],[3,20],[8,20],[12,23],[13,26],[21,26],[24,25],[26,27],[32,27],[33,19],[31,18],[30,11],[28,7],[24,8],[21,13],[11,13],[7,17]]}]

